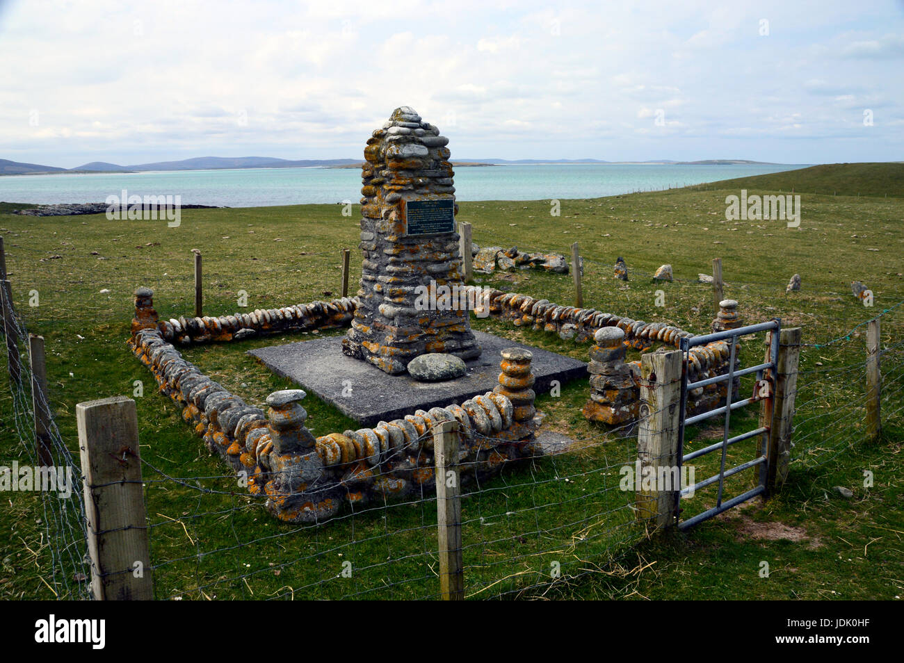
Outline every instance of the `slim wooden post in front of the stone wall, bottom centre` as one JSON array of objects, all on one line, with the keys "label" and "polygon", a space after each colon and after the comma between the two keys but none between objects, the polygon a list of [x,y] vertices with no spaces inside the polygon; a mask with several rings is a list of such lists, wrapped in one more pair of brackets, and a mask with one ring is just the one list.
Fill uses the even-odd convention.
[{"label": "slim wooden post in front of the stone wall, bottom centre", "polygon": [[458,422],[444,421],[433,432],[437,467],[439,591],[443,601],[465,598],[461,551],[461,498],[458,490]]}]

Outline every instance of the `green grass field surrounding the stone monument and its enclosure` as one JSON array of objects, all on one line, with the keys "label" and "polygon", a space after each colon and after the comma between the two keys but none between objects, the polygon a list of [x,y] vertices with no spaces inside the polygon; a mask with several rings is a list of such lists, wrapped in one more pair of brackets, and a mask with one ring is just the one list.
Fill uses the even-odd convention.
[{"label": "green grass field surrounding the stone monument and its enclosure", "polygon": [[[725,294],[739,301],[749,322],[780,317],[784,326],[803,327],[805,343],[824,344],[802,353],[795,433],[799,460],[785,489],[765,504],[757,501],[689,533],[633,547],[622,544],[638,541],[642,532],[632,524],[626,494],[616,487],[619,467],[634,460],[634,438],[625,431],[606,436],[583,419],[579,407],[588,395],[586,380],[563,388],[561,397],[538,397],[538,407],[548,414],[545,425],[569,434],[581,448],[507,469],[465,500],[469,595],[523,590],[547,577],[553,561],[561,562],[566,577],[530,594],[891,599],[904,591],[900,369],[894,372],[889,362],[884,439],[867,444],[863,328],[848,338],[852,328],[904,299],[904,166],[852,164],[846,173],[816,168],[828,170],[561,201],[560,217],[551,217],[549,201],[460,203],[459,219],[473,224],[481,246],[567,253],[578,241],[587,306],[708,331],[711,286],[697,283],[697,275],[710,273],[711,259],[721,257]],[[807,191],[828,191],[833,178],[846,187],[839,186],[838,195]],[[873,182],[880,182],[875,191]],[[725,219],[725,197],[740,188],[766,193],[792,186],[802,193],[799,228],[788,229],[781,221]],[[21,217],[9,213],[13,207],[18,206],[0,203],[14,300],[29,331],[46,339],[52,406],[70,449],[77,449],[76,403],[131,395],[135,380],[145,382],[137,406],[148,463],[146,505],[154,526],[157,598],[408,598],[438,592],[431,529],[436,516],[429,500],[374,509],[316,530],[276,523],[259,502],[233,490],[228,468],[190,434],[177,408],[155,395],[150,374],[125,343],[131,294],[138,285],[154,289],[162,318],[192,310],[193,247],[203,253],[205,313],[238,310],[240,290],[248,293],[252,309],[332,296],[339,288],[341,249],[357,246],[358,210],[351,218],[342,216],[339,205],[184,210],[181,225],[167,228],[165,221],[103,216]],[[612,278],[618,256],[631,274],[627,284]],[[353,250],[353,274],[360,259]],[[672,264],[675,282],[650,279],[663,263]],[[787,280],[796,272],[802,290],[786,294]],[[871,288],[872,309],[852,296],[852,280]],[[573,298],[570,276],[497,273],[478,275],[476,283],[557,303]],[[657,290],[663,291],[664,307],[655,305]],[[38,305],[31,306],[35,291]],[[902,340],[902,322],[904,307],[883,317],[885,345]],[[475,320],[474,326],[586,360],[585,345],[500,322]],[[183,352],[225,388],[259,405],[287,382],[244,351],[298,339],[268,337]],[[761,352],[758,345],[746,345],[742,359],[749,365]],[[900,363],[900,354],[890,358]],[[305,406],[307,425],[317,435],[357,427],[313,397]],[[0,464],[26,452],[23,437],[28,434],[7,416],[12,410],[12,396],[0,379]],[[744,430],[752,416],[733,422]],[[689,444],[693,448],[718,434],[713,427],[691,431]],[[752,457],[749,447],[731,449],[730,460]],[[154,468],[190,481],[167,480]],[[698,478],[708,469],[711,465],[700,465]],[[862,486],[864,469],[875,474],[871,488]],[[743,481],[734,484],[738,491]],[[837,495],[836,485],[853,490],[853,499]],[[41,500],[24,493],[3,499],[8,509],[0,510],[0,596],[51,598],[51,587],[60,591],[61,586],[50,575],[53,550],[42,527]],[[708,500],[711,494],[702,492],[685,504],[687,512]],[[349,558],[355,568],[352,583],[337,577]],[[771,569],[767,579],[758,574],[763,561]]]}]

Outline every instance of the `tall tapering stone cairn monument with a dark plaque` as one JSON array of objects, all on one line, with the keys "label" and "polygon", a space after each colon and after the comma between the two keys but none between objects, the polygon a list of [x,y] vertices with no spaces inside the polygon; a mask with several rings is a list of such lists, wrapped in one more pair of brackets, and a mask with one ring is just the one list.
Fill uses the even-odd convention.
[{"label": "tall tapering stone cairn monument with a dark plaque", "polygon": [[[392,112],[364,148],[363,268],[344,354],[391,374],[429,352],[480,355],[466,306],[418,305],[423,287],[460,292],[461,256],[448,139],[410,107]],[[423,286],[423,287],[419,287]]]}]

